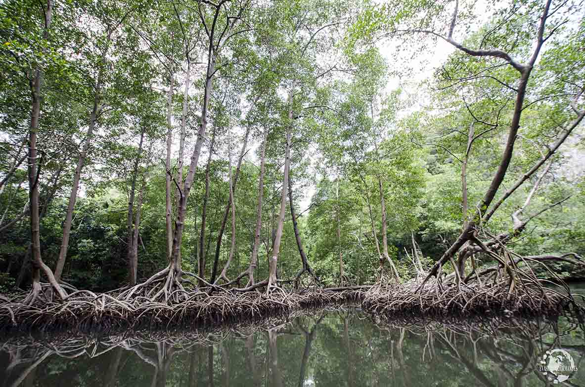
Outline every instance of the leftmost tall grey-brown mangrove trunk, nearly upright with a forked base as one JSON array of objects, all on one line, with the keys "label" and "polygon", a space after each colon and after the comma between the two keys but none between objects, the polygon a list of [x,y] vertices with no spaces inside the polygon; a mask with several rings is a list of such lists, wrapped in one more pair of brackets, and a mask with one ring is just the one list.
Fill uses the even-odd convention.
[{"label": "leftmost tall grey-brown mangrove trunk, nearly upright with a forked base", "polygon": [[[53,0],[47,1],[47,8],[44,11],[44,39],[49,37],[49,28],[51,25],[51,17],[53,12]],[[53,275],[53,271],[44,264],[40,254],[40,232],[39,232],[39,175],[40,165],[37,156],[37,131],[39,130],[39,116],[40,116],[40,88],[43,80],[43,73],[39,67],[35,70],[35,78],[31,83],[32,107],[30,112],[30,130],[29,130],[29,200],[30,200],[30,239],[32,242],[32,291],[25,299],[25,303],[32,304],[35,302],[41,290],[40,285],[40,270],[43,270],[45,276],[49,279],[49,283],[53,289],[59,294],[61,299],[66,297],[63,288],[57,283]]]}]

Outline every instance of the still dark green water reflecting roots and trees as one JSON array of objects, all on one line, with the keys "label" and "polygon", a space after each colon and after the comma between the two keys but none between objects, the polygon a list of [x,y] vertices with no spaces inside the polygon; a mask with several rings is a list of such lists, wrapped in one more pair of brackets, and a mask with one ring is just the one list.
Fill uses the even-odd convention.
[{"label": "still dark green water reflecting roots and trees", "polygon": [[585,386],[570,318],[404,323],[346,308],[214,332],[13,337],[0,344],[0,386],[552,386],[539,371],[551,349],[577,367],[556,385]]}]

